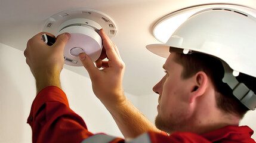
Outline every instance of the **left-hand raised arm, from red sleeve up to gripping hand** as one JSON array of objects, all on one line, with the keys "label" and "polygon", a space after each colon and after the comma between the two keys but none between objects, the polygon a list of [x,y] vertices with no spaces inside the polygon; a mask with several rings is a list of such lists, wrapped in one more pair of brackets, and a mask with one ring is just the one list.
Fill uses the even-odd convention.
[{"label": "left-hand raised arm, from red sleeve up to gripping hand", "polygon": [[59,35],[54,45],[48,46],[41,40],[42,34],[31,38],[24,51],[37,91],[27,119],[32,128],[32,142],[81,142],[92,133],[84,120],[69,108],[60,86],[63,49],[70,35]]}]

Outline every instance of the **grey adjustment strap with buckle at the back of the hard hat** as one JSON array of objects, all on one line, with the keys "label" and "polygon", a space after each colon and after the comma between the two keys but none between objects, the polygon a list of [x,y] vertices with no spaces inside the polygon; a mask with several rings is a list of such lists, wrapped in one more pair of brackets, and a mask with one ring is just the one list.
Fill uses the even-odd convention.
[{"label": "grey adjustment strap with buckle at the back of the hard hat", "polygon": [[255,110],[256,107],[256,95],[251,91],[244,83],[239,83],[235,76],[233,76],[233,70],[223,62],[224,67],[224,77],[223,82],[227,83],[229,87],[233,90],[233,95],[235,95],[243,105],[245,105],[250,110]]}]

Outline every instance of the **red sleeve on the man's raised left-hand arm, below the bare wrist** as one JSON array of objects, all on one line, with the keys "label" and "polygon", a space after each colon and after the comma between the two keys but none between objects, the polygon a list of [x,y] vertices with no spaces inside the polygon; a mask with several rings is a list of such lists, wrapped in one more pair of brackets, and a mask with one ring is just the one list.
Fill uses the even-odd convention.
[{"label": "red sleeve on the man's raised left-hand arm, below the bare wrist", "polygon": [[84,120],[69,108],[66,94],[48,86],[33,101],[27,123],[33,142],[81,142],[93,135]]}]

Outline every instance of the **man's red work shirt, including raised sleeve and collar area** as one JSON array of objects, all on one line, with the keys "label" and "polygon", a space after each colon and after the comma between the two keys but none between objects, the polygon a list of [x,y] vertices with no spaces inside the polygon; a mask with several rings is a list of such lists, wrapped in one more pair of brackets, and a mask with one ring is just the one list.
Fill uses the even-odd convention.
[{"label": "man's red work shirt, including raised sleeve and collar area", "polygon": [[[94,136],[87,130],[84,120],[70,109],[66,94],[55,86],[48,86],[38,93],[33,101],[27,123],[32,128],[33,142],[82,142]],[[155,132],[146,134],[150,142],[235,143],[255,142],[251,138],[252,133],[253,130],[248,126],[226,126],[203,135],[191,132],[176,132],[171,136]],[[122,138],[113,138],[111,142],[125,141]]]}]

